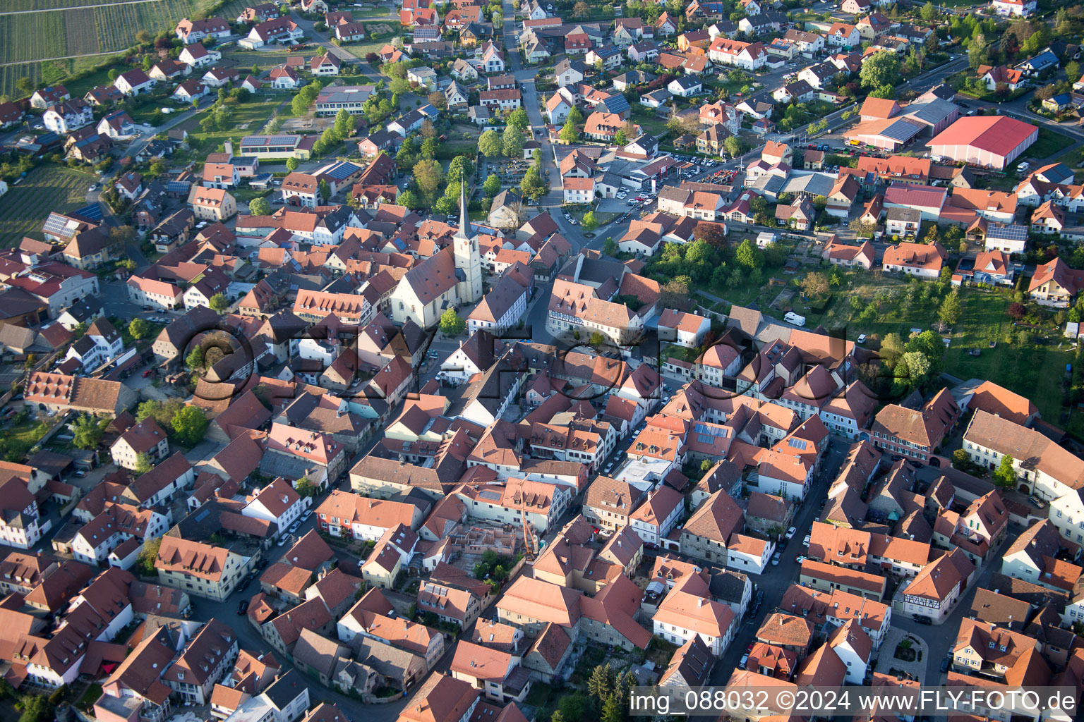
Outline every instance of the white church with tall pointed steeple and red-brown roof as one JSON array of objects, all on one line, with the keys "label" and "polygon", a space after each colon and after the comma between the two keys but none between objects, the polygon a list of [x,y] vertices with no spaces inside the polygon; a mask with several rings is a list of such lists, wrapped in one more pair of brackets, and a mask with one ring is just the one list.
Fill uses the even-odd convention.
[{"label": "white church with tall pointed steeple and red-brown roof", "polygon": [[391,320],[433,328],[448,309],[481,300],[481,251],[467,218],[465,183],[460,189],[460,227],[446,247],[408,271],[391,292]]}]

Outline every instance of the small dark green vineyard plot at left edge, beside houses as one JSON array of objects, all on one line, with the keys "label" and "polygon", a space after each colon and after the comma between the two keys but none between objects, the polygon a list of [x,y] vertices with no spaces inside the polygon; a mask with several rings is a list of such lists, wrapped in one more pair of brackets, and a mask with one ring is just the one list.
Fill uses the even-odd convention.
[{"label": "small dark green vineyard plot at left edge, beside houses", "polygon": [[0,204],[0,248],[13,248],[29,234],[41,238],[38,232],[49,213],[86,206],[87,188],[96,180],[93,173],[60,166],[35,168]]}]

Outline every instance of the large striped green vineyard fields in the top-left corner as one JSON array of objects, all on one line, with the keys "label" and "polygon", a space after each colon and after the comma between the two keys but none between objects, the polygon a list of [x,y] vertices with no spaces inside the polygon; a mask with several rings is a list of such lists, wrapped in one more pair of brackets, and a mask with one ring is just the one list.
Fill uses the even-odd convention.
[{"label": "large striped green vineyard fields in the top-left corner", "polygon": [[[4,0],[4,10],[57,10],[0,12],[0,94],[14,95],[18,78],[29,78],[35,83],[61,82],[77,69],[69,61],[41,61],[126,50],[140,30],[153,35],[172,28],[180,18],[214,3],[211,0],[149,0],[82,6],[93,4],[101,4],[101,0]],[[9,65],[12,63],[15,65]]]}]

